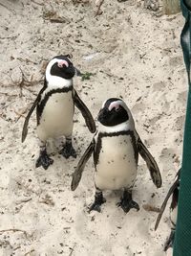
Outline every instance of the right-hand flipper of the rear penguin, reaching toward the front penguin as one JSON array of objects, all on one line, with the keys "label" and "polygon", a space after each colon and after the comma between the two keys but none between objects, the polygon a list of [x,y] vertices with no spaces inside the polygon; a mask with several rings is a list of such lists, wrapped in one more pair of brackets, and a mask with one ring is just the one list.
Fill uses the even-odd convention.
[{"label": "right-hand flipper of the rear penguin, reaching toward the front penguin", "polygon": [[90,110],[82,102],[82,100],[79,98],[79,96],[75,90],[73,91],[73,97],[74,97],[74,105],[80,110],[82,116],[85,119],[87,127],[89,128],[89,130],[92,133],[95,133],[96,132],[96,124],[95,124],[95,120],[94,120]]}]

